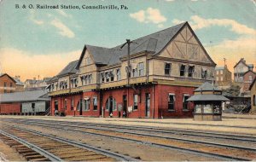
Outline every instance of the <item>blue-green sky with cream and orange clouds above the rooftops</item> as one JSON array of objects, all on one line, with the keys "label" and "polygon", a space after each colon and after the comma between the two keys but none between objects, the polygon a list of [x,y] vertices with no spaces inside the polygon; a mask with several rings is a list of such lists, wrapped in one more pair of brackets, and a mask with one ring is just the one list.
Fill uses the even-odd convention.
[{"label": "blue-green sky with cream and orange clouds above the rooftops", "polygon": [[[118,9],[83,9],[98,5]],[[255,0],[0,0],[0,73],[53,77],[85,43],[111,48],[183,21],[217,66],[226,58],[233,72],[240,58],[256,67],[255,18]]]}]

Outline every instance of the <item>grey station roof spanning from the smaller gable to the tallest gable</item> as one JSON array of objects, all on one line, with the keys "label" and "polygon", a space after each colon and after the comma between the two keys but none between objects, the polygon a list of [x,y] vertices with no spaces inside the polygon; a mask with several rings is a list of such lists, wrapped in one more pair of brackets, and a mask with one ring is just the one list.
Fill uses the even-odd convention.
[{"label": "grey station roof spanning from the smaller gable to the tallest gable", "polygon": [[[152,55],[158,55],[160,52],[165,49],[166,45],[172,41],[173,38],[176,37],[177,33],[180,32],[185,25],[188,25],[191,32],[195,35],[191,27],[189,26],[188,22],[183,22],[178,24],[177,26],[169,27],[165,30],[154,32],[142,38],[137,38],[132,40],[130,45],[131,55],[137,54],[140,52],[151,52]],[[200,43],[199,39],[196,37],[197,41]],[[80,63],[82,62],[85,51],[88,50],[90,55],[92,55],[93,60],[96,64],[103,64],[103,65],[114,65],[120,62],[120,58],[124,57],[128,54],[127,44],[121,49],[120,44],[119,46],[113,48],[104,48],[104,47],[97,47],[85,44],[82,54],[80,55],[79,62],[77,64],[77,69],[79,68]],[[202,49],[206,52],[207,51],[203,48]],[[211,57],[207,54],[207,58],[212,61]],[[215,63],[212,61],[215,65]]]}]

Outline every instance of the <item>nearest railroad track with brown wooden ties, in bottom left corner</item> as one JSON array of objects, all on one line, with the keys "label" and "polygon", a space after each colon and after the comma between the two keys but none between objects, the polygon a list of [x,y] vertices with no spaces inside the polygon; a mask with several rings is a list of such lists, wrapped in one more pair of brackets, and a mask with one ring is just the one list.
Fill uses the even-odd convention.
[{"label": "nearest railroad track with brown wooden ties, in bottom left corner", "polygon": [[[0,139],[32,161],[137,161],[129,156],[102,148],[51,136],[36,130],[5,126]],[[40,139],[40,140],[38,140]]]}]

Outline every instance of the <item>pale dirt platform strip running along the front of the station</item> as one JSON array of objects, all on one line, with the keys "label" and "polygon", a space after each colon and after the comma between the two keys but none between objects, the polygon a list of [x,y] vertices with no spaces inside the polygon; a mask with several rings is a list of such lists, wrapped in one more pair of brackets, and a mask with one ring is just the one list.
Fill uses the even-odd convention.
[{"label": "pale dirt platform strip running along the front of the station", "polygon": [[[224,114],[225,116],[226,114]],[[240,114],[237,114],[238,116]],[[227,116],[230,116],[228,114]],[[234,116],[234,115],[233,115]],[[119,118],[85,118],[85,117],[46,117],[46,116],[0,116],[1,118],[18,118],[18,119],[50,119],[64,121],[78,121],[103,124],[129,124],[129,125],[145,125],[155,127],[177,128],[187,130],[211,130],[220,132],[230,132],[235,134],[252,134],[256,135],[256,119],[254,115],[241,115],[242,119],[223,119],[223,121],[195,121],[194,119],[119,119]],[[256,115],[255,115],[256,118]],[[197,125],[203,124],[203,125]],[[209,124],[209,125],[207,125]],[[212,126],[214,125],[214,126]],[[224,127],[224,125],[235,127]],[[255,127],[255,128],[236,128],[236,127]]]}]

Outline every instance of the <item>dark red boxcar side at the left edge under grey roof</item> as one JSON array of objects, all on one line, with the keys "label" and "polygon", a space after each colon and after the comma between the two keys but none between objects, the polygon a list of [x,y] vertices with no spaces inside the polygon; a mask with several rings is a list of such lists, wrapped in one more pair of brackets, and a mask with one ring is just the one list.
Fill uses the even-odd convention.
[{"label": "dark red boxcar side at the left edge under grey roof", "polygon": [[1,103],[0,114],[21,113],[20,103]]}]

